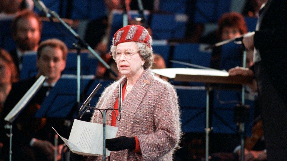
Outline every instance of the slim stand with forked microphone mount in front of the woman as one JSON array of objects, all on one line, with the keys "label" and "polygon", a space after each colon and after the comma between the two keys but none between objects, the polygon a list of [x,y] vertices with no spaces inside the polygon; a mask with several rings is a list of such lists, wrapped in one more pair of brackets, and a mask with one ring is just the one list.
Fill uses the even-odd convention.
[{"label": "slim stand with forked microphone mount in front of the woman", "polygon": [[[123,84],[120,83],[119,84],[119,106],[118,106],[118,109],[114,109],[112,107],[107,108],[107,109],[99,109],[99,108],[96,108],[96,107],[90,107],[90,105],[87,104],[87,109],[84,110],[84,112],[81,114],[81,117],[80,117],[80,118],[82,118],[84,113],[87,110],[89,110],[89,109],[95,109],[95,110],[99,110],[100,111],[100,113],[102,115],[102,118],[103,118],[103,161],[106,161],[106,112],[108,110],[112,110],[114,112],[115,116],[116,116],[116,120],[117,121],[121,120],[122,88],[123,88]],[[117,117],[115,110],[119,111],[119,118]]]}]

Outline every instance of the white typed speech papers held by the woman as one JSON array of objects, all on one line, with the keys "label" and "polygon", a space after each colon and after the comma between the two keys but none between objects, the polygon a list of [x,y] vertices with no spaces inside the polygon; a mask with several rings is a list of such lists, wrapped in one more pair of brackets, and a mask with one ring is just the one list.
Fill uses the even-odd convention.
[{"label": "white typed speech papers held by the woman", "polygon": [[[118,127],[106,125],[106,139],[115,138],[117,131]],[[56,133],[59,135],[57,131]],[[79,155],[103,154],[103,124],[75,119],[69,140],[59,136],[73,153]],[[106,149],[106,156],[109,156],[110,153],[111,151]]]}]

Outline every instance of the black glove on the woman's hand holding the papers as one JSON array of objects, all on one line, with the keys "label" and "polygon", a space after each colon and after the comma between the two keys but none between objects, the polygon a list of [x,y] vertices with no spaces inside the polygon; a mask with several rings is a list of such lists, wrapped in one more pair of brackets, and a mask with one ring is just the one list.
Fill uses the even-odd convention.
[{"label": "black glove on the woman's hand holding the papers", "polygon": [[106,148],[110,151],[119,151],[125,149],[132,151],[136,148],[136,138],[120,136],[118,138],[106,139]]}]

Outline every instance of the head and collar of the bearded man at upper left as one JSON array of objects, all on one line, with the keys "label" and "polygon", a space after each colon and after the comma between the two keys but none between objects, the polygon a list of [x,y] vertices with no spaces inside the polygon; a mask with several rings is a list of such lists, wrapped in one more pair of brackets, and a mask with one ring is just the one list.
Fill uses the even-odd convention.
[{"label": "head and collar of the bearded man at upper left", "polygon": [[22,69],[21,59],[25,53],[36,52],[41,39],[42,21],[30,10],[23,10],[13,20],[12,37],[16,42],[16,49],[9,51],[18,71]]}]

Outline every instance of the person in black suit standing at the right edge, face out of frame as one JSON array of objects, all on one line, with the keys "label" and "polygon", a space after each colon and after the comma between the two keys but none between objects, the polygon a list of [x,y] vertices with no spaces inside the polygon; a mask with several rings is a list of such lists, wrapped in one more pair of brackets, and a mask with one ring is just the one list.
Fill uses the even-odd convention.
[{"label": "person in black suit standing at the right edge, face out of frame", "polygon": [[254,74],[261,102],[268,160],[287,160],[287,1],[268,0],[255,33],[243,37],[254,49]]}]

